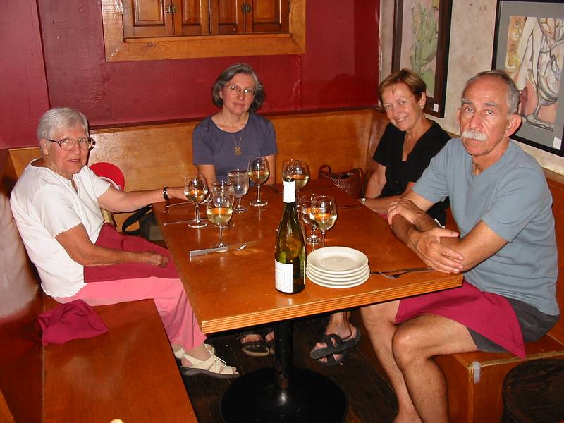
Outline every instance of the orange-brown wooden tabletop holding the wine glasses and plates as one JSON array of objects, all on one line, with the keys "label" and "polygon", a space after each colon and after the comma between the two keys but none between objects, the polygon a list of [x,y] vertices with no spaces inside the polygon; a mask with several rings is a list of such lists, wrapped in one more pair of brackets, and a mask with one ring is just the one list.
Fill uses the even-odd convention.
[{"label": "orange-brown wooden tabletop holding the wine glasses and plates", "polygon": [[[168,249],[180,273],[188,298],[204,333],[271,323],[350,307],[396,300],[462,284],[462,275],[430,271],[406,274],[398,279],[372,275],[353,288],[324,288],[309,279],[298,294],[280,293],[274,288],[274,242],[283,212],[281,185],[263,186],[266,207],[250,207],[256,197],[251,188],[243,205],[248,211],[233,214],[233,226],[223,231],[226,243],[256,241],[240,251],[216,252],[188,257],[190,250],[210,247],[219,240],[218,228],[189,228],[185,221],[194,216],[193,204],[184,204],[164,213],[164,202],[153,204]],[[373,271],[422,266],[423,263],[395,235],[379,214],[360,204],[327,180],[310,180],[300,195],[331,195],[338,205],[335,226],[326,233],[326,246],[339,245],[364,252]],[[205,216],[204,205],[200,216]],[[308,228],[309,230],[309,228]]]}]

